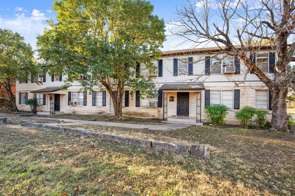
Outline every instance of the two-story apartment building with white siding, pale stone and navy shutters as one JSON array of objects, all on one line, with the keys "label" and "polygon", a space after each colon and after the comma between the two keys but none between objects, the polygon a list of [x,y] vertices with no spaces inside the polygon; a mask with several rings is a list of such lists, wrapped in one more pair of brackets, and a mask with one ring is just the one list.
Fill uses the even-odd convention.
[{"label": "two-story apartment building with white siding, pale stone and navy shutters", "polygon": [[[236,57],[217,55],[209,58],[208,52],[217,50],[218,47],[211,47],[163,52],[162,57],[154,62],[158,67],[156,74],[147,70],[144,64],[138,64],[136,72],[152,77],[158,97],[141,99],[139,92],[130,94],[131,89],[125,87],[122,114],[168,121],[201,122],[206,119],[205,105],[224,104],[230,108],[228,123],[235,123],[235,111],[246,105],[271,110],[268,88],[255,74],[247,73],[248,68]],[[275,51],[267,45],[261,47],[253,57],[253,61],[270,77],[275,59]],[[25,103],[35,94],[39,102],[38,112],[114,114],[112,100],[106,89],[94,86],[91,94],[83,94],[78,92],[81,85],[77,81],[67,90],[61,90],[66,77],[46,74],[35,80],[17,82],[17,107],[30,110]]]}]

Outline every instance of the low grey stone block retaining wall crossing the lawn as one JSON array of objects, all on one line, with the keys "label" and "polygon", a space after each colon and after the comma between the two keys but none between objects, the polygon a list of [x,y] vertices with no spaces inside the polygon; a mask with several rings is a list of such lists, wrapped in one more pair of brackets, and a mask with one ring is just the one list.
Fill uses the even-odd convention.
[{"label": "low grey stone block retaining wall crossing the lawn", "polygon": [[148,148],[153,148],[156,150],[168,150],[170,152],[186,155],[186,156],[191,155],[194,157],[203,157],[207,159],[210,158],[209,146],[203,145],[203,144],[191,144],[190,145],[191,147],[189,150],[189,145],[182,144],[182,143],[171,143],[171,142],[162,142],[162,141],[152,142],[150,140],[145,140],[140,138],[125,137],[125,136],[112,135],[112,134],[106,134],[106,133],[97,133],[97,132],[91,132],[88,130],[79,130],[79,129],[69,128],[69,127],[59,127],[59,126],[55,126],[51,124],[25,122],[25,123],[22,123],[20,126],[50,129],[54,131],[84,135],[89,137],[98,137],[104,140],[122,142],[124,144],[132,144],[135,146],[148,147]]}]

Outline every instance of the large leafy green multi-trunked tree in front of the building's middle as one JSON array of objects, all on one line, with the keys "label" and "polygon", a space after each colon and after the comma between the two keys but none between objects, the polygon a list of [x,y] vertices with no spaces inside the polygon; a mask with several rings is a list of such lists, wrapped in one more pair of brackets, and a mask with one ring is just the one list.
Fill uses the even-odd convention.
[{"label": "large leafy green multi-trunked tree in front of the building's middle", "polygon": [[156,71],[151,59],[160,57],[165,40],[164,21],[152,14],[150,2],[63,0],[52,8],[58,23],[48,21],[51,28],[37,37],[37,50],[49,73],[68,75],[63,89],[86,75],[80,91],[105,87],[116,117],[122,117],[124,87],[140,90],[141,97],[155,95],[152,79],[135,77],[135,62]]}]

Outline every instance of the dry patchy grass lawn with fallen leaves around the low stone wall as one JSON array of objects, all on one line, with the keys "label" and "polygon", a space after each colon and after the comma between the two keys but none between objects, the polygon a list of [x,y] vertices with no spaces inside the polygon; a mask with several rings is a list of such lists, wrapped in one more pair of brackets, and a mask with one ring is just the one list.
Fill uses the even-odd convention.
[{"label": "dry patchy grass lawn with fallen leaves around the low stone wall", "polygon": [[0,125],[0,195],[295,194],[292,134],[207,126],[170,132],[88,128],[204,142],[212,147],[212,159]]}]

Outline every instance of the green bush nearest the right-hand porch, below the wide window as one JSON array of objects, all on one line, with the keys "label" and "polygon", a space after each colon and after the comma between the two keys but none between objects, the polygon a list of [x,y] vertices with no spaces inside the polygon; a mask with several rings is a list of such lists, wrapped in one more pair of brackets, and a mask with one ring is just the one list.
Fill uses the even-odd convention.
[{"label": "green bush nearest the right-hand porch, below the wide window", "polygon": [[214,125],[225,124],[225,116],[230,108],[225,105],[206,106],[204,111],[207,114],[208,121]]}]

